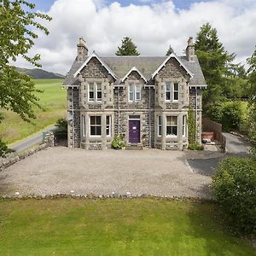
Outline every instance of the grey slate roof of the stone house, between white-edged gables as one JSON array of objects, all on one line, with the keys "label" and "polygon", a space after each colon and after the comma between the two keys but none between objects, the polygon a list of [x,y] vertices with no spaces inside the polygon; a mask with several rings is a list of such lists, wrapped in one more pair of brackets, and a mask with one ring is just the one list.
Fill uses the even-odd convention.
[{"label": "grey slate roof of the stone house, between white-edged gables", "polygon": [[[87,58],[89,57],[90,56]],[[87,58],[84,61],[86,61]],[[132,67],[137,67],[137,69],[143,73],[144,77],[148,79],[149,84],[150,81],[152,82],[152,74],[166,60],[166,56],[99,56],[99,58],[111,68],[113,73],[115,73],[119,79],[122,79]],[[189,69],[193,74],[193,78],[189,81],[190,86],[207,86],[197,58],[195,58],[194,62],[187,61],[186,56],[180,56],[178,58],[182,62],[183,66]],[[74,78],[73,74],[78,71],[84,61],[73,61],[73,65],[67,73],[67,77],[64,80],[63,85],[79,85],[78,79]],[[116,83],[119,83],[119,79]]]}]

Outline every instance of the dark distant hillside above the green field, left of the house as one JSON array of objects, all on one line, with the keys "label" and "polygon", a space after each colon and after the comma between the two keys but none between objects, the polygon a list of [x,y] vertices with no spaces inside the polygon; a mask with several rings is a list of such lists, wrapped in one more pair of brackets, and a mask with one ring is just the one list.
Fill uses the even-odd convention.
[{"label": "dark distant hillside above the green field, left of the house", "polygon": [[32,77],[32,79],[63,79],[64,75],[60,73],[52,73],[45,71],[41,68],[20,68],[16,67],[17,71],[20,73],[25,73],[26,75]]}]

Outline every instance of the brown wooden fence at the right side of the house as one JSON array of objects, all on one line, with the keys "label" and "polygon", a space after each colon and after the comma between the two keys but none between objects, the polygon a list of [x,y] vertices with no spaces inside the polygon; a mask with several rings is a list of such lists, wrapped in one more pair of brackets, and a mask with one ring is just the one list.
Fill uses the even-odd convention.
[{"label": "brown wooden fence at the right side of the house", "polygon": [[222,125],[213,122],[211,119],[203,119],[202,120],[202,131],[213,131],[214,132],[214,139],[216,139],[221,148],[223,148],[224,152],[226,149],[226,138],[222,134]]}]

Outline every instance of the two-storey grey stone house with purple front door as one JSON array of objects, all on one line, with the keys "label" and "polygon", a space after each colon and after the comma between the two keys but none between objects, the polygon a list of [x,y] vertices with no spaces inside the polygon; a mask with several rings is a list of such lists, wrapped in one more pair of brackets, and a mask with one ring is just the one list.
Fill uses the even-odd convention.
[{"label": "two-storey grey stone house with purple front door", "polygon": [[127,147],[188,147],[188,111],[195,111],[201,143],[201,94],[207,87],[189,38],[186,55],[88,55],[79,38],[67,73],[68,147],[111,148],[113,137]]}]

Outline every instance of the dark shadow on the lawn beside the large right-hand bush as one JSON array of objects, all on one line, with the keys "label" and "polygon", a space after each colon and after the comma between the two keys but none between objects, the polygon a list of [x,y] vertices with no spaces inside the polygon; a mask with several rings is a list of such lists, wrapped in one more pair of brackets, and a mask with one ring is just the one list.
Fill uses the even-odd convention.
[{"label": "dark shadow on the lawn beside the large right-hand bush", "polygon": [[193,203],[188,218],[188,236],[201,244],[202,251],[206,253],[204,255],[256,255],[246,241],[230,234],[219,215],[217,205]]}]

